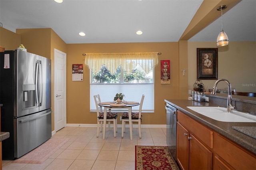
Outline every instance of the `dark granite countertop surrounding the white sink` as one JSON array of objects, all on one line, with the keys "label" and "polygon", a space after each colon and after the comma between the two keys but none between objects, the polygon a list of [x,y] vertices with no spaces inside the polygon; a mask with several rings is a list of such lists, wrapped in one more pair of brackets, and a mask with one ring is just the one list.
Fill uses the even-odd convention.
[{"label": "dark granite countertop surrounding the white sink", "polygon": [[197,102],[192,100],[175,100],[175,99],[165,99],[166,103],[176,107],[189,117],[195,119],[196,121],[206,125],[207,127],[213,129],[214,131],[222,134],[226,138],[232,140],[236,144],[250,150],[252,153],[256,154],[256,139],[250,137],[238,130],[235,130],[232,127],[256,127],[256,123],[251,122],[221,122],[201,115],[191,109],[188,109],[187,106],[216,106],[208,102]]}]

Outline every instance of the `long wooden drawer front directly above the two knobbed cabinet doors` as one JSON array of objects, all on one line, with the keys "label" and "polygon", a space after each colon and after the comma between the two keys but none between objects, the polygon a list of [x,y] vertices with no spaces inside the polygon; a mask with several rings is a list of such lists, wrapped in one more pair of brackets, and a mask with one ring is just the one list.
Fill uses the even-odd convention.
[{"label": "long wooden drawer front directly above the two knobbed cabinet doors", "polygon": [[209,148],[213,148],[213,131],[210,130],[209,128],[206,128],[204,125],[198,123],[197,121],[194,121],[184,113],[178,110],[178,122],[181,123],[184,127],[186,127],[191,134],[194,134],[206,146]]}]

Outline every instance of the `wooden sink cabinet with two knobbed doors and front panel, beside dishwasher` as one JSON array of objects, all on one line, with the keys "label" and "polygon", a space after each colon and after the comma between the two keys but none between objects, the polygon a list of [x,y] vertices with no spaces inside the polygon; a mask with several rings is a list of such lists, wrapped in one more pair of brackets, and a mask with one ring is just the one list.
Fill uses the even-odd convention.
[{"label": "wooden sink cabinet with two knobbed doors and front panel, beside dishwasher", "polygon": [[212,147],[212,134],[211,130],[178,111],[177,162],[182,169],[212,169],[213,154],[208,148]]}]

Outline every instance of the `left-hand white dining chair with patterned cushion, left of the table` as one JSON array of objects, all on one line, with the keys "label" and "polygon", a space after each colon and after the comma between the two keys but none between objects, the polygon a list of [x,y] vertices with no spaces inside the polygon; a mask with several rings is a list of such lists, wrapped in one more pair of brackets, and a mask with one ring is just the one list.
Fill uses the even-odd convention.
[{"label": "left-hand white dining chair with patterned cushion, left of the table", "polygon": [[[96,111],[97,111],[97,138],[99,137],[99,132],[102,132],[102,123],[104,119],[104,112],[102,110],[102,107],[98,105],[98,103],[101,103],[100,100],[100,95],[94,95],[94,101],[96,105]],[[114,137],[116,137],[116,132],[117,132],[117,118],[118,114],[114,112],[107,112],[107,122],[108,122],[108,127],[110,128],[110,122],[113,122],[114,126]]]}]

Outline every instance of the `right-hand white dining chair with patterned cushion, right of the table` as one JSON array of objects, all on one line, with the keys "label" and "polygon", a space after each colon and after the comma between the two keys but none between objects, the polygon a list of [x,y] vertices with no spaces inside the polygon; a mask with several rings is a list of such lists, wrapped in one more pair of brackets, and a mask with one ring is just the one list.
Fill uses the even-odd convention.
[{"label": "right-hand white dining chair with patterned cushion, right of the table", "polygon": [[[133,122],[138,122],[138,129],[139,129],[139,137],[141,138],[141,121],[142,121],[142,115],[141,115],[141,111],[142,111],[142,105],[143,105],[143,101],[144,101],[144,95],[142,95],[141,100],[140,100],[140,109],[139,112],[132,112],[131,116],[132,116],[132,123]],[[128,112],[124,112],[122,114],[122,138],[124,137],[124,132],[125,132],[125,123],[129,122],[129,116],[128,116]]]}]

